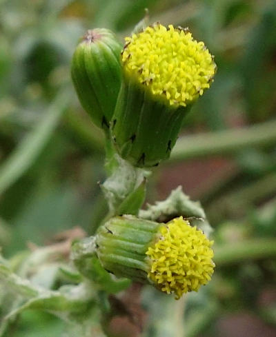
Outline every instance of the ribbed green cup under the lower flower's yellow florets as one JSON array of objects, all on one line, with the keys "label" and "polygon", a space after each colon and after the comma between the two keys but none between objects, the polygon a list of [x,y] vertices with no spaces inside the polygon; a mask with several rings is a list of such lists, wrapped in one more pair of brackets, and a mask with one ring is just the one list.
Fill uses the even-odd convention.
[{"label": "ribbed green cup under the lower flower's yellow florets", "polygon": [[135,216],[116,216],[99,227],[96,252],[103,267],[119,277],[150,283],[146,252],[161,224]]}]

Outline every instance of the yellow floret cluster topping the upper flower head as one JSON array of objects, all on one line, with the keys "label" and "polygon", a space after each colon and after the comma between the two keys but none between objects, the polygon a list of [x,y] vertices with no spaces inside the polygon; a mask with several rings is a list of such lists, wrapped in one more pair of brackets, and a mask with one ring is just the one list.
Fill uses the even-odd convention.
[{"label": "yellow floret cluster topping the upper flower head", "polygon": [[216,70],[204,43],[172,25],[155,24],[126,37],[122,61],[126,74],[137,76],[153,95],[184,107],[210,88]]}]

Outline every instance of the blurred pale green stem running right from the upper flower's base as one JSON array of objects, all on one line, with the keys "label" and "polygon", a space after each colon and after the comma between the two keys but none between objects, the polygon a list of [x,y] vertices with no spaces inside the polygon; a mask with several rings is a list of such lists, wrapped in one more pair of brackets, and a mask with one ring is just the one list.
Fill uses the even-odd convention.
[{"label": "blurred pale green stem running right from the upper flower's base", "polygon": [[276,144],[276,121],[210,134],[183,136],[175,145],[170,161],[237,153],[248,147]]}]

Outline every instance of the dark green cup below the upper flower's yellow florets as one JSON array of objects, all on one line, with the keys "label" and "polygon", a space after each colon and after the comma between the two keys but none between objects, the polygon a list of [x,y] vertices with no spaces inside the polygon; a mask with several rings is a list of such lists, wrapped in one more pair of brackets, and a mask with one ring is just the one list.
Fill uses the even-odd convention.
[{"label": "dark green cup below the upper flower's yellow florets", "polygon": [[175,108],[124,74],[112,117],[117,151],[132,165],[152,167],[168,159],[190,106]]}]

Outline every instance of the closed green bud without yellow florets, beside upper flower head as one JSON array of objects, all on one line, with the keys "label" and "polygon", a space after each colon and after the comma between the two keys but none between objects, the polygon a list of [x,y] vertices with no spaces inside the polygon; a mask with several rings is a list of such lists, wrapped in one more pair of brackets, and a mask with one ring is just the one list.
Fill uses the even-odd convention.
[{"label": "closed green bud without yellow florets, beside upper flower head", "polygon": [[72,81],[83,109],[109,127],[121,86],[121,45],[107,29],[88,30],[72,58]]}]

